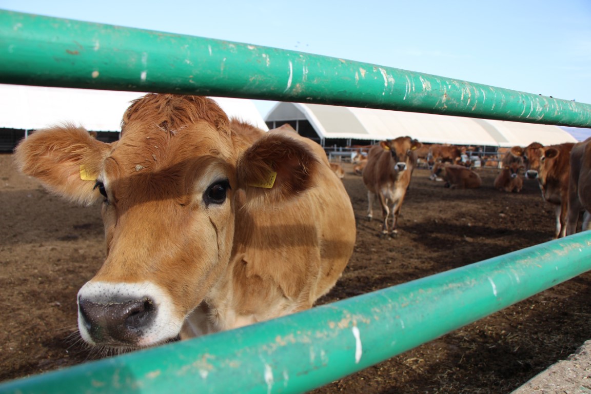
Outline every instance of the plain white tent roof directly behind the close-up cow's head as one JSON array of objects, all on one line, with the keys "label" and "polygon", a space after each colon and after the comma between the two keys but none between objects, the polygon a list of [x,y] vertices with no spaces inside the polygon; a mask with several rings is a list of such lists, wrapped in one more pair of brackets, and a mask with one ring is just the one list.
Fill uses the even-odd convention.
[{"label": "plain white tent roof directly behind the close-up cow's head", "polygon": [[[145,95],[111,90],[0,84],[0,128],[40,129],[63,122],[89,131],[121,131],[129,102]],[[268,130],[252,100],[212,97],[228,116]]]}]

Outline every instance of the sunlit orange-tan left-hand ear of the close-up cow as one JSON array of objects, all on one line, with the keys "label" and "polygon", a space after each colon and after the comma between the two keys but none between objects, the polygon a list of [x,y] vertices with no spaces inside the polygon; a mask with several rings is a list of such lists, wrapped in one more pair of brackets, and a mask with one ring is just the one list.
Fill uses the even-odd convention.
[{"label": "sunlit orange-tan left-hand ear of the close-up cow", "polygon": [[14,158],[23,174],[52,193],[90,205],[102,199],[96,178],[111,149],[112,144],[97,141],[84,128],[64,125],[32,133],[15,148]]}]

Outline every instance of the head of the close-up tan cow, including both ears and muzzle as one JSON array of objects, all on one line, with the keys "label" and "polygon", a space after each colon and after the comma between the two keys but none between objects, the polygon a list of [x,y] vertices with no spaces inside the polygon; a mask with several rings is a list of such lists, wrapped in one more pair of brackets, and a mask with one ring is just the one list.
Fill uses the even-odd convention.
[{"label": "head of the close-up tan cow, including both ears and muzzle", "polygon": [[309,148],[240,126],[211,99],[150,94],[125,112],[112,144],[64,125],[18,146],[22,172],[69,200],[102,203],[106,259],[78,294],[87,343],[135,348],[175,338],[225,274],[236,210],[310,187],[317,161]]}]

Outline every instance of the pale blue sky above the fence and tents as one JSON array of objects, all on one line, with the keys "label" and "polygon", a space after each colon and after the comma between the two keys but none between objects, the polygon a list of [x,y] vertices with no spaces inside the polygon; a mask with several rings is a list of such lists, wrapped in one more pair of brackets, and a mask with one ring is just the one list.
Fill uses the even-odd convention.
[{"label": "pale blue sky above the fence and tents", "polygon": [[[591,103],[591,0],[0,0],[0,8],[322,54]],[[256,102],[263,116],[273,104]]]}]

